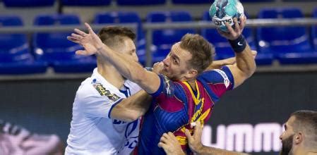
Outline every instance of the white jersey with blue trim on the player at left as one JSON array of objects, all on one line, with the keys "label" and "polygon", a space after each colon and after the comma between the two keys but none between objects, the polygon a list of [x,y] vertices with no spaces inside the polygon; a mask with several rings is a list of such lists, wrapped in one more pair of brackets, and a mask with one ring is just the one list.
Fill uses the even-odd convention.
[{"label": "white jersey with blue trim on the player at left", "polygon": [[73,102],[65,154],[131,154],[138,143],[140,120],[126,123],[110,118],[116,104],[140,91],[129,80],[124,82],[124,89],[107,82],[97,68],[81,83]]}]

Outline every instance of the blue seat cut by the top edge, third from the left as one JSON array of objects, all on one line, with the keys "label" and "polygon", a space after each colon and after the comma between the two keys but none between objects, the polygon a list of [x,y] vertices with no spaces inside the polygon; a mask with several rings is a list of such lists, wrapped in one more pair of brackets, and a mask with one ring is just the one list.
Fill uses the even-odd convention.
[{"label": "blue seat cut by the top edge, third from the left", "polygon": [[146,5],[157,5],[165,4],[166,0],[116,0],[116,4],[119,6],[146,6]]}]

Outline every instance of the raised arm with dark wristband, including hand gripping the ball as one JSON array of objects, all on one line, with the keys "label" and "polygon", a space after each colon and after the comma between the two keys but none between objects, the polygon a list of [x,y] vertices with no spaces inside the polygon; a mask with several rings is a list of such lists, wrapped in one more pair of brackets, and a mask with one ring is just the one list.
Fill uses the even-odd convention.
[{"label": "raised arm with dark wristband, including hand gripping the ball", "polygon": [[240,21],[239,24],[237,18],[234,18],[234,28],[226,23],[229,32],[218,30],[220,35],[229,40],[236,54],[237,65],[228,66],[234,76],[234,87],[241,85],[244,80],[251,77],[256,70],[256,62],[252,56],[250,46],[243,35],[241,35],[246,23],[246,17],[240,18]]}]

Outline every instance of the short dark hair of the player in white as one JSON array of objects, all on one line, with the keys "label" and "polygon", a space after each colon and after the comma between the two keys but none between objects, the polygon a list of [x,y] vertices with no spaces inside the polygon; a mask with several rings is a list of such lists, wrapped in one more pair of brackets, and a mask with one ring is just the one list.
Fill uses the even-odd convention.
[{"label": "short dark hair of the player in white", "polygon": [[136,34],[134,32],[127,27],[119,26],[103,27],[97,35],[102,42],[109,47],[118,46],[123,41],[124,37],[128,37],[132,40],[136,39]]}]

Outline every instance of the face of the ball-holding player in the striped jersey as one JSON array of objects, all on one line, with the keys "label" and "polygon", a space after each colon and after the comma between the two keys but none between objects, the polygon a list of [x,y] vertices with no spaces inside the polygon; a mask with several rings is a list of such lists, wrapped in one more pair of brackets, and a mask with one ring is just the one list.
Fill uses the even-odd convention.
[{"label": "face of the ball-holding player in the striped jersey", "polygon": [[189,72],[188,62],[191,59],[191,53],[179,46],[180,42],[172,46],[171,51],[163,60],[164,69],[162,74],[169,77],[171,80],[186,80],[186,73]]}]

